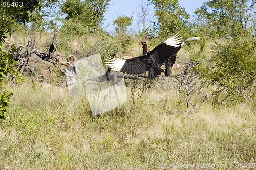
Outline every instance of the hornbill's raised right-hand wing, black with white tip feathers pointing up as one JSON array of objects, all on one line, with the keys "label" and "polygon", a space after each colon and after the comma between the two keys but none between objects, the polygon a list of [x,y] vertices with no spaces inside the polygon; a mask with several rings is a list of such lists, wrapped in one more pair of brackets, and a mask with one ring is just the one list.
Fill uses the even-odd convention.
[{"label": "hornbill's raised right-hand wing, black with white tip feathers pointing up", "polygon": [[180,44],[179,35],[168,38],[148,53],[148,63],[153,62],[154,66],[162,66],[176,52]]}]

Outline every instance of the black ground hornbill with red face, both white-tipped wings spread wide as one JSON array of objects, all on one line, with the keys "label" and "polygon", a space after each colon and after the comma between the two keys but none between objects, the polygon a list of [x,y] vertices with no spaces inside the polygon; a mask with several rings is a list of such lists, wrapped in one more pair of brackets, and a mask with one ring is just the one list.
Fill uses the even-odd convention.
[{"label": "black ground hornbill with red face, both white-tipped wings spread wide", "polygon": [[175,35],[168,38],[152,51],[147,51],[146,43],[141,42],[140,44],[143,47],[142,55],[128,60],[108,58],[106,59],[108,62],[105,62],[105,64],[114,71],[126,72],[127,74],[142,74],[148,71],[148,79],[154,79],[164,72],[160,67],[163,64],[172,62],[173,60],[171,59],[173,56],[176,57],[185,42],[200,39],[199,37],[193,37],[181,43],[181,38],[178,36],[179,35]]}]

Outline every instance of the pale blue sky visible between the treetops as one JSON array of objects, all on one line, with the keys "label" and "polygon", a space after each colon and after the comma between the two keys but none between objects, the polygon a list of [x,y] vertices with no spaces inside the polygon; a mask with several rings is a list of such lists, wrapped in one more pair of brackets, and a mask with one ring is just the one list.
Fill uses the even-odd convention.
[{"label": "pale blue sky visible between the treetops", "polygon": [[[114,32],[113,21],[119,16],[133,16],[133,25],[131,29],[138,31],[138,12],[140,12],[139,3],[142,0],[111,0],[108,11],[105,13],[105,21],[103,27],[108,32]],[[146,1],[146,0],[144,0]],[[193,11],[203,5],[207,0],[179,0],[180,6],[184,7],[186,12],[193,15]],[[154,15],[153,7],[150,8],[151,17]]]}]

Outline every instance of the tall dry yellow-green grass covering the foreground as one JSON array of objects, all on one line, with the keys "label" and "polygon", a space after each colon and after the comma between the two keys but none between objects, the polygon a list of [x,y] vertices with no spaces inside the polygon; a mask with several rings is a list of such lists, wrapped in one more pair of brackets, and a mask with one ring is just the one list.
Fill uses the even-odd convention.
[{"label": "tall dry yellow-green grass covering the foreground", "polygon": [[86,99],[62,89],[30,83],[7,89],[15,95],[0,123],[0,169],[253,169],[256,163],[250,104],[208,102],[186,115],[174,87],[134,102],[130,96],[91,117]]}]

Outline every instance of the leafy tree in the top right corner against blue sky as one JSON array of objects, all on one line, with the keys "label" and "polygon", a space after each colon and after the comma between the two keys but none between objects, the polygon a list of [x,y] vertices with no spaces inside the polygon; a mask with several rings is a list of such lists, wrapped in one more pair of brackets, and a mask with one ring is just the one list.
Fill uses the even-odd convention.
[{"label": "leafy tree in the top right corner against blue sky", "polygon": [[234,37],[255,29],[255,0],[209,0],[194,13],[197,26],[204,27],[212,37]]}]

